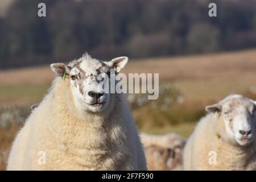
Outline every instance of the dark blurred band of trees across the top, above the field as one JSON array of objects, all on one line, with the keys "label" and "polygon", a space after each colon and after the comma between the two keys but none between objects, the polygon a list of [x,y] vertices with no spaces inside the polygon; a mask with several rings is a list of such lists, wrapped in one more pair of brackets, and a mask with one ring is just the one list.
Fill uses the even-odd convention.
[{"label": "dark blurred band of trees across the top, above the field", "polygon": [[[38,16],[38,3],[46,17]],[[256,1],[16,0],[0,18],[0,69],[256,47]]]}]

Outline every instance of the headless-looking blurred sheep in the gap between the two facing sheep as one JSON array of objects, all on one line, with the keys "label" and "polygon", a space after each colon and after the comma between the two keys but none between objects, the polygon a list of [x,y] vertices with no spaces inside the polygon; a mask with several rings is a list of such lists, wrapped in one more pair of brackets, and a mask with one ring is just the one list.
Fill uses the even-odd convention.
[{"label": "headless-looking blurred sheep in the gap between the two facing sheep", "polygon": [[149,170],[181,170],[185,140],[177,134],[141,134]]}]

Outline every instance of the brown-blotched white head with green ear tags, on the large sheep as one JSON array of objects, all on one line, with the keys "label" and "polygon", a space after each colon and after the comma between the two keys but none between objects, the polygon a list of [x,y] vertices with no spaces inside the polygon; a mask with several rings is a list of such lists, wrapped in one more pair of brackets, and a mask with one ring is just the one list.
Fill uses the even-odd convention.
[{"label": "brown-blotched white head with green ear tags, on the large sheep", "polygon": [[104,88],[102,81],[110,82],[110,76],[125,67],[127,61],[127,57],[117,57],[105,62],[86,54],[69,64],[51,64],[51,69],[60,77],[67,74],[77,109],[100,113],[114,104],[114,94]]}]

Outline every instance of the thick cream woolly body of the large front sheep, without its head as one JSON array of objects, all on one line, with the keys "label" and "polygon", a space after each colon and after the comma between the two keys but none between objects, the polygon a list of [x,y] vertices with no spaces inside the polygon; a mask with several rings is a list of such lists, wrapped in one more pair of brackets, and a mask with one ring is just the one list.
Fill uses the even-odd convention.
[{"label": "thick cream woolly body of the large front sheep, without its head", "polygon": [[81,113],[69,79],[57,77],[16,136],[7,169],[146,170],[133,117],[123,96],[118,97],[106,118]]}]

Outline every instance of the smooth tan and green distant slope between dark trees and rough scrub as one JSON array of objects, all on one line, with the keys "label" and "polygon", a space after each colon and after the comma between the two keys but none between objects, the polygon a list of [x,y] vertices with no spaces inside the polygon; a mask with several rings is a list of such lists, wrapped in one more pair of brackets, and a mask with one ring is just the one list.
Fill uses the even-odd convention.
[{"label": "smooth tan and green distant slope between dark trees and rough scrub", "polygon": [[[160,84],[172,82],[187,100],[216,100],[256,86],[256,49],[199,56],[133,60],[125,73],[159,73]],[[49,65],[0,72],[0,105],[40,100],[54,74]],[[36,86],[35,86],[36,85]]]}]

